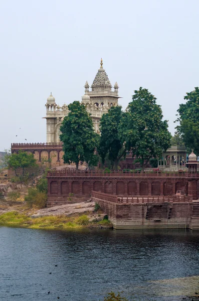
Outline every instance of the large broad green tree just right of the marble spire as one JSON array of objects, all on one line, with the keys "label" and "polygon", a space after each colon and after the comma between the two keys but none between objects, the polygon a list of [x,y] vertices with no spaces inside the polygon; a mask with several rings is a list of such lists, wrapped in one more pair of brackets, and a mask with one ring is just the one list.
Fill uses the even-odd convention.
[{"label": "large broad green tree just right of the marble spire", "polygon": [[167,120],[162,121],[162,110],[156,104],[156,98],[142,87],[134,91],[126,114],[122,117],[120,136],[124,138],[132,155],[144,162],[150,158],[162,156],[162,152],[171,146],[171,134]]}]

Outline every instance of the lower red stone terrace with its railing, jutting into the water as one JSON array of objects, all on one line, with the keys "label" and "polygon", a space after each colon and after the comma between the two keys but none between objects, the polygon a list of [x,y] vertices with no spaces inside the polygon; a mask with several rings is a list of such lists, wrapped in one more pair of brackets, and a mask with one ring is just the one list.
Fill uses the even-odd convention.
[{"label": "lower red stone terrace with its railing, jutting into the water", "polygon": [[121,203],[121,196],[93,191],[92,199],[108,214],[115,229],[191,228],[191,196],[139,197],[134,203],[126,196]]}]

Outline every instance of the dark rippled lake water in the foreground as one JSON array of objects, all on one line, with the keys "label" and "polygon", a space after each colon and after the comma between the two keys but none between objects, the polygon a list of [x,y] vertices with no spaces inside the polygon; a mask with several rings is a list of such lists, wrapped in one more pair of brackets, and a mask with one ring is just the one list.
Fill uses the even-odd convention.
[{"label": "dark rippled lake water in the foreground", "polygon": [[190,230],[0,227],[0,300],[99,301],[111,290],[181,300],[199,292],[198,251],[199,232]]}]

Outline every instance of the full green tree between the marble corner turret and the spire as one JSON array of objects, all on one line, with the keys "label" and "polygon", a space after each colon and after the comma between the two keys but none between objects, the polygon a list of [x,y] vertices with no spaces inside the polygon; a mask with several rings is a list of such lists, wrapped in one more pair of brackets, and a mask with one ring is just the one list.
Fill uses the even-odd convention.
[{"label": "full green tree between the marble corner turret and the spire", "polygon": [[98,145],[99,135],[95,133],[93,122],[86,108],[79,101],[68,106],[70,112],[62,122],[60,140],[63,141],[64,163],[76,164],[86,162],[89,166],[96,166],[98,156],[95,149]]}]

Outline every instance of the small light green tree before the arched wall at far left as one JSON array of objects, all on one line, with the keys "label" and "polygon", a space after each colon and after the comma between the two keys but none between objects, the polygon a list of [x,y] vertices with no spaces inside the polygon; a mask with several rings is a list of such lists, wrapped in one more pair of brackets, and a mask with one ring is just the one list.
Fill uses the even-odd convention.
[{"label": "small light green tree before the arched wall at far left", "polygon": [[37,167],[34,155],[23,152],[21,149],[19,153],[7,154],[5,162],[8,168],[15,171],[16,177],[25,177],[29,168]]}]

